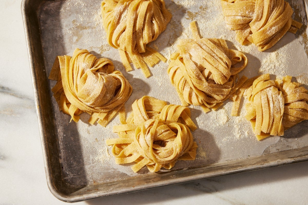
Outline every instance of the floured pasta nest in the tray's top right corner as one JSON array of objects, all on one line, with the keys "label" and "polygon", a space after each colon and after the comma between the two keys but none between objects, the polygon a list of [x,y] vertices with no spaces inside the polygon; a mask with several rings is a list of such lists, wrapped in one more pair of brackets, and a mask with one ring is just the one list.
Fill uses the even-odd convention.
[{"label": "floured pasta nest in the tray's top right corner", "polygon": [[236,40],[265,51],[287,31],[296,33],[302,24],[292,20],[293,10],[284,0],[221,0],[225,22],[236,31]]}]

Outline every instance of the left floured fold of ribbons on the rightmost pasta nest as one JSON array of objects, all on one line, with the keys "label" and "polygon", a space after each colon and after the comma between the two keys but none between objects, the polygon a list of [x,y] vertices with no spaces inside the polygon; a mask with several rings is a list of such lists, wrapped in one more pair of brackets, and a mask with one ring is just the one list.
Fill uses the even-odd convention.
[{"label": "left floured fold of ribbons on the rightmost pasta nest", "polygon": [[282,116],[284,98],[270,75],[262,75],[253,81],[246,91],[248,102],[245,107],[245,118],[250,121],[258,140],[270,135],[282,136]]}]

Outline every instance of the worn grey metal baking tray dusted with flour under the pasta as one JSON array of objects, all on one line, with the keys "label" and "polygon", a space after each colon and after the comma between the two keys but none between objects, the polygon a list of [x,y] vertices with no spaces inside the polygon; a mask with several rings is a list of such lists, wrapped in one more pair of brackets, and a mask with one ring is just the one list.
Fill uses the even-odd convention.
[{"label": "worn grey metal baking tray dusted with flour under the pasta", "polygon": [[[254,45],[240,46],[234,40],[234,32],[225,28],[219,0],[165,2],[173,17],[151,44],[165,57],[176,50],[180,38],[191,37],[188,25],[196,20],[203,37],[224,38],[229,47],[246,53],[249,63],[241,75],[288,74],[308,84],[307,4],[303,0],[289,1],[294,9],[293,18],[304,23],[302,29],[296,35],[287,33],[263,53]],[[133,173],[130,165],[116,165],[105,140],[117,137],[111,130],[120,123],[118,117],[106,128],[90,126],[87,114],[82,114],[78,123],[69,123],[70,116],[59,111],[52,97],[51,87],[55,82],[47,79],[55,57],[72,55],[75,48],[80,48],[97,57],[110,58],[133,86],[126,103],[128,112],[132,102],[144,95],[180,104],[168,79],[168,64],[160,62],[151,68],[152,77],[148,79],[138,69],[125,72],[118,51],[107,44],[100,1],[23,0],[22,14],[47,184],[58,199],[77,202],[308,160],[308,121],[287,130],[283,137],[259,142],[249,122],[243,117],[230,116],[232,102],[226,102],[223,108],[207,114],[190,106],[192,119],[198,126],[193,132],[198,144],[196,160],[178,161],[171,170],[158,173],[146,169]],[[241,116],[244,112],[242,108]]]}]

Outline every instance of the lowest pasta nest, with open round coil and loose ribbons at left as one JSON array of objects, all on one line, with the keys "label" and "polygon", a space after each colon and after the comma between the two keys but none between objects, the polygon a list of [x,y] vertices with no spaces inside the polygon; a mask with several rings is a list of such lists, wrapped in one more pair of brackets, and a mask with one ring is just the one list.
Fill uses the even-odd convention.
[{"label": "lowest pasta nest, with open round coil and loose ribbons at left", "polygon": [[189,128],[197,127],[189,108],[144,96],[132,104],[132,110],[126,121],[113,127],[119,138],[106,140],[116,164],[136,162],[134,172],[144,166],[156,172],[171,169],[178,160],[195,159],[197,143]]}]

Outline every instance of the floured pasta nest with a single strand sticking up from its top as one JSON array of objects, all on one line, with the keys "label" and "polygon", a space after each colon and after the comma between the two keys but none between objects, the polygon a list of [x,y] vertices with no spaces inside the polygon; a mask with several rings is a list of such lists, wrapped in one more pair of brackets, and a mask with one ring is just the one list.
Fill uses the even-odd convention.
[{"label": "floured pasta nest with a single strand sticking up from its top", "polygon": [[168,74],[183,105],[200,105],[208,112],[237,90],[237,73],[246,67],[247,57],[229,49],[223,39],[200,38],[195,22],[191,30],[194,39],[183,39],[177,45]]}]

